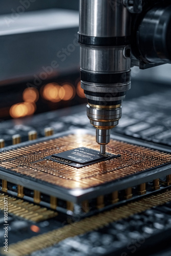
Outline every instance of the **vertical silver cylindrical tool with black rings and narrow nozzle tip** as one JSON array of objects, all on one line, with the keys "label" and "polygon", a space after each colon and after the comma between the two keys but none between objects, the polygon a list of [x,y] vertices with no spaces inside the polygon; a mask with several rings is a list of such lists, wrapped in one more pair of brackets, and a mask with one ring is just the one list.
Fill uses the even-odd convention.
[{"label": "vertical silver cylindrical tool with black rings and narrow nozzle tip", "polygon": [[121,118],[122,100],[131,88],[131,14],[123,3],[112,8],[104,0],[80,0],[79,13],[81,88],[104,154],[111,129]]}]

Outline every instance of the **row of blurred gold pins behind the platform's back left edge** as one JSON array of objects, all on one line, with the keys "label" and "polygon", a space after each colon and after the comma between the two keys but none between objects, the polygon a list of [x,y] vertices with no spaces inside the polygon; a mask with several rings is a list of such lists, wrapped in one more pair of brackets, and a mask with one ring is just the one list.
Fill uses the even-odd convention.
[{"label": "row of blurred gold pins behind the platform's back left edge", "polygon": [[[45,136],[51,136],[54,134],[54,130],[52,127],[47,127],[44,129]],[[37,132],[36,131],[30,131],[28,133],[28,139],[29,140],[35,140],[37,139]],[[19,134],[15,134],[12,136],[12,144],[16,145],[21,142],[21,136]],[[5,140],[0,139],[0,148],[5,147]]]}]

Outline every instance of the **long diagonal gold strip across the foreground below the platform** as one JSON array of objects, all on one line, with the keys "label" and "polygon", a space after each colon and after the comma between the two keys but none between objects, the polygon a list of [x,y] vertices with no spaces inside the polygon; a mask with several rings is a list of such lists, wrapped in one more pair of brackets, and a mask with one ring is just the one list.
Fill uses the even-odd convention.
[{"label": "long diagonal gold strip across the foreground below the platform", "polygon": [[[80,234],[102,228],[109,223],[123,218],[128,218],[154,206],[159,206],[169,202],[170,200],[171,191],[166,190],[161,194],[143,198],[139,201],[131,202],[127,205],[103,212],[97,216],[71,223],[44,234],[39,234],[36,239],[33,237],[21,242],[17,242],[9,246],[8,253],[9,255],[13,256],[24,256],[31,254],[34,251],[53,246],[66,238],[78,236]],[[3,248],[1,249],[1,252],[3,255],[5,254]]]}]

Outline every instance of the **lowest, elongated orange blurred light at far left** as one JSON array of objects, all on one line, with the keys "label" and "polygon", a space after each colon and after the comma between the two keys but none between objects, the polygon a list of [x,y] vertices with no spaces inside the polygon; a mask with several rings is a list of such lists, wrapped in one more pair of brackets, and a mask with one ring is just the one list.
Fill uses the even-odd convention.
[{"label": "lowest, elongated orange blurred light at far left", "polygon": [[19,118],[24,116],[33,115],[36,111],[36,106],[34,103],[22,102],[11,106],[10,116],[13,118]]}]

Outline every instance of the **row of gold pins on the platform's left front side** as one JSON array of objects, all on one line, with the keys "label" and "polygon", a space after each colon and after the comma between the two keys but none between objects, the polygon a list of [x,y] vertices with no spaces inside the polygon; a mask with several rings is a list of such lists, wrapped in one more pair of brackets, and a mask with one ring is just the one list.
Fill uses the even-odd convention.
[{"label": "row of gold pins on the platform's left front side", "polygon": [[[8,183],[6,180],[2,180],[2,191],[7,193]],[[17,197],[24,197],[24,186],[17,185]],[[33,201],[36,204],[39,204],[41,201],[41,193],[40,191],[34,190]],[[57,207],[57,198],[50,196],[50,208],[56,210]],[[74,204],[70,201],[67,201],[67,210],[74,210]]]}]

